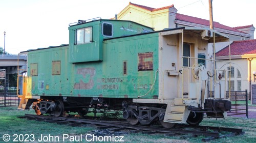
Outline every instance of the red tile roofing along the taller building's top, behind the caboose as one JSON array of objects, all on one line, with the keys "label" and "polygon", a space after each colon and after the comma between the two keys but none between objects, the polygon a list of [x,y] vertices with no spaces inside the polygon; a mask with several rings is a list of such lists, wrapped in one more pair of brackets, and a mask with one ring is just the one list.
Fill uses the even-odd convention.
[{"label": "red tile roofing along the taller building's top, behind the caboose", "polygon": [[[174,5],[170,5],[170,6],[167,6],[167,7],[162,7],[162,8],[155,9],[155,8],[151,8],[151,7],[146,7],[146,6],[142,6],[142,5],[133,4],[131,2],[129,3],[129,5],[133,5],[133,6],[136,6],[138,8],[148,10],[148,11],[151,11],[151,12],[152,11],[159,11],[159,10],[163,10],[163,9],[169,9],[169,8],[174,7]],[[179,13],[176,14],[176,20],[181,20],[181,21],[186,21],[186,22],[190,22],[190,23],[196,23],[196,24],[201,24],[201,25],[205,25],[205,26],[210,26],[209,20],[205,20],[205,19],[198,18],[198,17],[193,17],[193,16],[188,16],[188,15],[184,15],[184,14],[179,14]],[[221,29],[228,30],[228,31],[247,34],[245,32],[238,31],[238,30],[236,30],[232,27],[220,24],[219,22],[214,22],[214,27],[221,28]]]}]

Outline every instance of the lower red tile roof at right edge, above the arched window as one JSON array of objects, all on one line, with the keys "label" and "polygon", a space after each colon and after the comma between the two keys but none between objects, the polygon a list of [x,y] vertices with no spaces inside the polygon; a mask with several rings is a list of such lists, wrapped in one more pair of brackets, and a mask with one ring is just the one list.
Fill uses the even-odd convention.
[{"label": "lower red tile roof at right edge, above the arched window", "polygon": [[[256,54],[256,39],[234,41],[230,44],[230,55]],[[216,53],[216,56],[229,55],[229,48],[226,46]]]}]

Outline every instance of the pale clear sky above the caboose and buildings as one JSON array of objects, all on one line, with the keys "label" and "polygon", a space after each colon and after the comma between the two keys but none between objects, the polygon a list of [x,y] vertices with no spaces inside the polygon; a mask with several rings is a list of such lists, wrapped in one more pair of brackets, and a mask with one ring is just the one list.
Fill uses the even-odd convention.
[{"label": "pale clear sky above the caboose and buildings", "polygon": [[[129,2],[152,8],[174,5],[178,13],[209,19],[208,0],[0,0],[0,47],[4,38],[11,54],[69,44],[69,23],[113,18]],[[256,27],[255,6],[255,0],[213,0],[213,18],[230,27]]]}]

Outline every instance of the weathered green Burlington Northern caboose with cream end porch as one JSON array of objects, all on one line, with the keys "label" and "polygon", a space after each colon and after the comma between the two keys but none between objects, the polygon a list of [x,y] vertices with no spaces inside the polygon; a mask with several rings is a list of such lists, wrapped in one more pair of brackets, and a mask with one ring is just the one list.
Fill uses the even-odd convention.
[{"label": "weathered green Burlington Northern caboose with cream end porch", "polygon": [[[96,107],[121,109],[133,125],[159,120],[164,127],[199,124],[202,112],[213,109],[225,117],[229,101],[216,95],[218,106],[211,107],[215,101],[205,87],[211,78],[207,73],[214,74],[208,43],[227,39],[207,28],[154,32],[132,21],[79,20],[69,26],[69,45],[25,52],[28,72],[19,108],[33,104],[38,115],[54,116]],[[197,121],[191,120],[192,111]]]}]

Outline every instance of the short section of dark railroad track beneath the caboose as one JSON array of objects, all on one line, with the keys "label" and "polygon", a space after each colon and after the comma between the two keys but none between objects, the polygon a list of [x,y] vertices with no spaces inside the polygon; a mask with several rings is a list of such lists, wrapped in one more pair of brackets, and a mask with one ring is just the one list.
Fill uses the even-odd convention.
[{"label": "short section of dark railroad track beneath the caboose", "polygon": [[[97,121],[89,119],[76,119],[76,118],[65,118],[65,117],[52,117],[52,116],[37,116],[25,114],[24,117],[27,120],[44,121],[49,123],[65,124],[69,126],[81,126],[83,124],[89,124],[95,126],[97,129],[108,129],[109,131],[121,131],[129,130],[128,132],[143,132],[147,134],[164,133],[166,136],[174,135],[191,135],[197,137],[204,135],[202,141],[209,141],[212,139],[218,139],[227,136],[234,136],[244,134],[242,129],[236,128],[225,128],[225,127],[211,127],[211,126],[191,126],[186,124],[178,124],[175,128],[165,129],[162,127],[155,126],[132,126],[126,122],[120,121]],[[125,131],[127,132],[127,131]],[[223,134],[225,132],[225,134]]]}]

